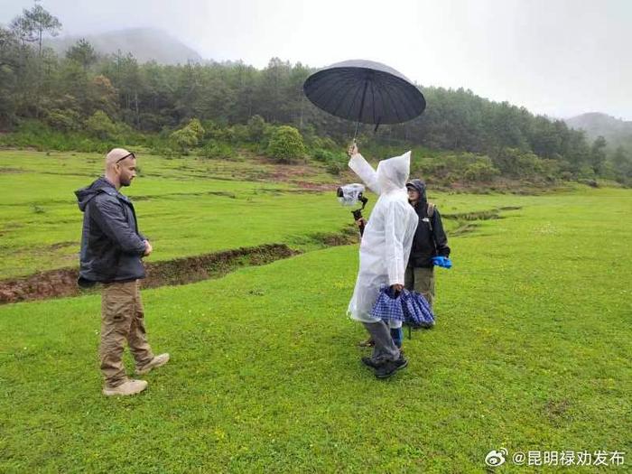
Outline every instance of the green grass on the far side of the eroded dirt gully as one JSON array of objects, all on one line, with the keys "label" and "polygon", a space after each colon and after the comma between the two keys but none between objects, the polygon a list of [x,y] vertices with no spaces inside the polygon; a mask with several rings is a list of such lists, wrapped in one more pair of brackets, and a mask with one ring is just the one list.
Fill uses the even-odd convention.
[{"label": "green grass on the far side of the eroded dirt gully", "polygon": [[[153,244],[152,261],[237,246],[300,246],[305,235],[339,232],[351,222],[334,195],[350,174],[340,181],[329,177],[330,191],[304,193],[297,192],[302,181],[326,179],[320,168],[142,154],[138,164],[140,176],[124,192],[135,199],[140,228]],[[101,167],[96,153],[0,152],[0,279],[78,265],[82,214],[73,193],[98,177]],[[447,213],[532,200],[431,197]],[[368,209],[375,200],[370,196]]]}]

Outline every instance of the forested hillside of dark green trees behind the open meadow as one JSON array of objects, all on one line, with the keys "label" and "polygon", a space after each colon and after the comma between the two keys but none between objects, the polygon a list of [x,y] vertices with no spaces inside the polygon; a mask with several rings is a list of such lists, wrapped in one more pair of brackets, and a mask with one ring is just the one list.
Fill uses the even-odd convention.
[{"label": "forested hillside of dark green trees behind the open meadow", "polygon": [[[302,83],[313,69],[302,63],[274,58],[263,70],[242,62],[165,65],[129,53],[98,54],[83,39],[57,54],[42,38],[60,30],[60,21],[41,5],[0,28],[0,127],[12,132],[0,143],[92,151],[124,141],[161,153],[206,147],[207,155],[217,155],[244,142],[267,149],[270,127],[291,125],[307,142],[303,151],[313,154],[335,150],[352,132],[353,124],[326,115],[304,97]],[[475,153],[469,176],[479,181],[632,180],[630,152],[608,153],[602,136],[589,139],[562,120],[464,88],[420,88],[428,104],[422,116],[382,125],[375,133],[367,126],[364,142]],[[191,119],[202,125],[196,136],[186,131]]]}]

